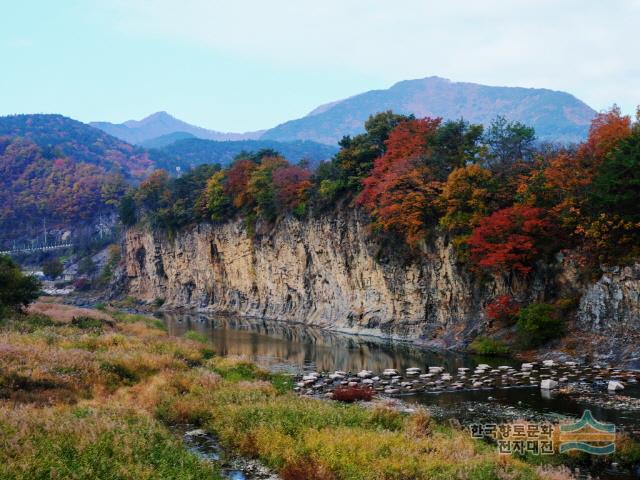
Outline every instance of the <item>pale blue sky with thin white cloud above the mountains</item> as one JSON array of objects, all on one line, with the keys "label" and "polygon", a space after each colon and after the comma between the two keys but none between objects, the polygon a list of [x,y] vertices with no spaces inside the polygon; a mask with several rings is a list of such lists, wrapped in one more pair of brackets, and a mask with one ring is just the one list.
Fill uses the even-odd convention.
[{"label": "pale blue sky with thin white cloud above the mountains", "polygon": [[640,103],[640,0],[4,0],[0,115],[249,131],[412,78]]}]

